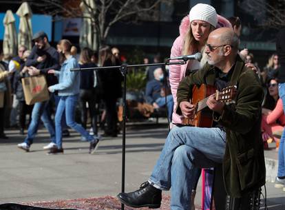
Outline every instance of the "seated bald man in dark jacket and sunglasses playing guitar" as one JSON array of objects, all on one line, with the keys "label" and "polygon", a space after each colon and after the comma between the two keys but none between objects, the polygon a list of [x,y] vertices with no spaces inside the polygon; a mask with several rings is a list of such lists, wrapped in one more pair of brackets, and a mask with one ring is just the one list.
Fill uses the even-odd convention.
[{"label": "seated bald man in dark jacket and sunglasses playing guitar", "polygon": [[174,127],[148,182],[138,191],[119,193],[131,207],[160,207],[161,190],[171,187],[171,209],[191,209],[195,167],[223,165],[224,187],[234,198],[265,183],[265,163],[260,130],[263,90],[254,71],[237,55],[239,39],[230,28],[209,34],[205,52],[208,63],[185,77],[178,87],[178,114],[193,117],[189,102],[193,85],[215,85],[218,90],[236,85],[235,104],[207,99],[215,127]]}]

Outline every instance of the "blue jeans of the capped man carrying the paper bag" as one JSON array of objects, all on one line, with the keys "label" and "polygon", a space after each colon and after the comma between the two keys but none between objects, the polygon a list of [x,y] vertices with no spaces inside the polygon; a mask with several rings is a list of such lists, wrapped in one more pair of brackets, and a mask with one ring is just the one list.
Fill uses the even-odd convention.
[{"label": "blue jeans of the capped man carrying the paper bag", "polygon": [[37,102],[34,104],[32,109],[32,120],[28,127],[28,135],[25,137],[25,143],[32,145],[34,136],[38,132],[40,119],[45,125],[45,128],[50,133],[50,139],[53,143],[56,143],[55,140],[55,131],[54,131],[54,122],[50,118],[50,113],[48,112],[49,101]]}]

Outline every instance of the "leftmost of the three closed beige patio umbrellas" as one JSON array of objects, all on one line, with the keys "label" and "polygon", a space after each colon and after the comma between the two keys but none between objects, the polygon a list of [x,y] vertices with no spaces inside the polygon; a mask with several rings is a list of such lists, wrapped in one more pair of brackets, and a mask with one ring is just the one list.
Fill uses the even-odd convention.
[{"label": "leftmost of the three closed beige patio umbrellas", "polygon": [[15,18],[11,10],[7,10],[3,19],[5,27],[3,38],[3,54],[4,56],[17,55],[17,31],[15,26]]}]

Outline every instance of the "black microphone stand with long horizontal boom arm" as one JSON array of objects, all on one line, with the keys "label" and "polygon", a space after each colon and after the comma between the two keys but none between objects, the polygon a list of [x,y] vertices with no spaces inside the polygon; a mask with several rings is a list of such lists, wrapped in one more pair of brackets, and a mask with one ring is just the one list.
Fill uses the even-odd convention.
[{"label": "black microphone stand with long horizontal boom arm", "polygon": [[[127,101],[126,101],[126,93],[127,93],[127,70],[130,67],[147,67],[147,66],[155,66],[155,65],[183,65],[186,61],[177,61],[177,62],[169,62],[171,59],[168,59],[166,63],[148,63],[148,64],[138,64],[138,65],[116,65],[116,66],[105,66],[105,67],[85,67],[85,68],[73,68],[70,69],[71,72],[80,72],[85,70],[110,70],[110,69],[119,69],[121,74],[123,74],[124,82],[123,82],[123,138],[122,138],[122,185],[121,192],[125,192],[125,147],[126,147],[126,109],[127,109]],[[121,204],[121,210],[124,210],[124,204]]]}]

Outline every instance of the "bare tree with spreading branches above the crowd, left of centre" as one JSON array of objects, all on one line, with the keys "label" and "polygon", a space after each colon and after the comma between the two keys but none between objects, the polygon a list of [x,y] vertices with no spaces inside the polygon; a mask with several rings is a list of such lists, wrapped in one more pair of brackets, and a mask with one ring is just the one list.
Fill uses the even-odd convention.
[{"label": "bare tree with spreading branches above the crowd, left of centre", "polygon": [[[112,25],[119,21],[136,21],[140,17],[154,19],[154,15],[159,15],[160,3],[171,3],[174,0],[82,0],[87,11],[82,12],[74,0],[68,1],[68,4],[63,4],[61,0],[27,0],[43,11],[44,14],[52,16],[59,15],[63,18],[80,17],[90,19],[92,23],[93,33],[98,36],[99,45],[105,43],[109,30]],[[89,5],[89,1],[94,3],[94,8]],[[176,0],[178,1],[178,0]],[[70,2],[73,2],[70,3]],[[158,18],[157,18],[158,19]]]}]

